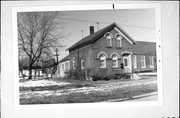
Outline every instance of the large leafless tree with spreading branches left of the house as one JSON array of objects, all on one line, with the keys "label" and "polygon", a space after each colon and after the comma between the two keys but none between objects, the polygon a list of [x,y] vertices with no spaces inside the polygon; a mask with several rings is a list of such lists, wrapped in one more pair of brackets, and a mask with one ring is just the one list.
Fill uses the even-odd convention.
[{"label": "large leafless tree with spreading branches left of the house", "polygon": [[[61,47],[58,12],[18,13],[18,48],[28,57],[29,77],[33,65],[44,57],[52,57],[54,48]],[[57,32],[58,31],[58,32]]]}]

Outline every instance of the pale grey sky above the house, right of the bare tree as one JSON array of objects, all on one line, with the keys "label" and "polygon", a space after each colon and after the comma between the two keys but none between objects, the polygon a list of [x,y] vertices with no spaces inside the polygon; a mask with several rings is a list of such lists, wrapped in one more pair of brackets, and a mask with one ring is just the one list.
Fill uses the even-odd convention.
[{"label": "pale grey sky above the house, right of the bare tree", "polygon": [[65,49],[89,35],[89,26],[94,26],[96,32],[116,22],[136,41],[155,42],[154,9],[65,11],[61,14],[59,20],[65,22],[64,32],[69,36],[61,49],[60,58],[68,55]]}]

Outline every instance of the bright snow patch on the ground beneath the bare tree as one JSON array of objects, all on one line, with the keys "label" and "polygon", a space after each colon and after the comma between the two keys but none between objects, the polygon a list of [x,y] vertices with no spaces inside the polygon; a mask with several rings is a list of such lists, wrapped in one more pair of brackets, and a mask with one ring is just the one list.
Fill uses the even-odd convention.
[{"label": "bright snow patch on the ground beneath the bare tree", "polygon": [[52,86],[52,85],[58,85],[58,86],[64,86],[69,85],[71,83],[68,82],[55,82],[53,80],[30,80],[26,82],[20,82],[20,87],[44,87],[44,86]]}]

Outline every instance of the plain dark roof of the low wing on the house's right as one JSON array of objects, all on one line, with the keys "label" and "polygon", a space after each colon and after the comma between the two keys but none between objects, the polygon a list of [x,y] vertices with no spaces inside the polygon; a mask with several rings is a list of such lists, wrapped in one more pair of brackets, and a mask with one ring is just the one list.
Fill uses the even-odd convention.
[{"label": "plain dark roof of the low wing on the house's right", "polygon": [[145,42],[136,41],[137,43],[133,45],[133,54],[141,55],[156,55],[156,43],[155,42]]}]

